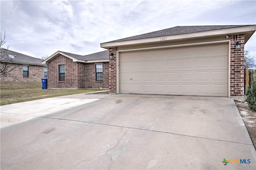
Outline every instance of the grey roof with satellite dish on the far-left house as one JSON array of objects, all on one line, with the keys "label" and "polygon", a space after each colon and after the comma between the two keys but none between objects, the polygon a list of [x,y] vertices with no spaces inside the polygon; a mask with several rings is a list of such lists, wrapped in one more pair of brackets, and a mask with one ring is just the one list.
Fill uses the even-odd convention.
[{"label": "grey roof with satellite dish on the far-left house", "polygon": [[[5,48],[1,48],[1,55],[4,50],[7,50]],[[14,56],[13,59],[9,57],[9,55]],[[29,64],[29,65],[40,65],[40,66],[46,66],[46,64],[42,64],[42,59],[40,58],[34,58],[31,56],[27,56],[25,54],[21,54],[12,50],[7,50],[6,54],[1,57],[1,62],[12,62],[16,64]]]}]

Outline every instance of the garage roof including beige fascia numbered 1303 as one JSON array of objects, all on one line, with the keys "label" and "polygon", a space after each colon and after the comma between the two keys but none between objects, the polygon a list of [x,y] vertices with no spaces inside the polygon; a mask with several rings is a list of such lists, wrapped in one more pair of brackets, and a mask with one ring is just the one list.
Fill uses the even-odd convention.
[{"label": "garage roof including beige fascia numbered 1303", "polygon": [[184,40],[187,38],[206,38],[210,36],[225,37],[236,34],[244,34],[244,43],[246,43],[255,30],[256,25],[176,26],[173,28],[100,43],[100,47],[108,49],[117,46],[155,43],[162,40],[172,41]]}]

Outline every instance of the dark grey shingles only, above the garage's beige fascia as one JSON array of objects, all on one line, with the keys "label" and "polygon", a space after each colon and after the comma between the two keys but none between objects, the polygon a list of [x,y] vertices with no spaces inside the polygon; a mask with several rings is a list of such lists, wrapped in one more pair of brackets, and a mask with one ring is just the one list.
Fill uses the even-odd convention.
[{"label": "dark grey shingles only, above the garage's beige fascia", "polygon": [[143,38],[154,38],[154,37],[171,36],[171,35],[178,35],[178,34],[190,34],[195,32],[220,30],[220,29],[226,29],[226,28],[236,28],[236,27],[242,27],[242,26],[252,26],[252,25],[176,26],[176,27],[167,28],[164,30],[149,32],[146,34],[140,34],[137,36],[122,38],[122,39],[114,40],[110,42],[122,42],[122,41],[129,41],[129,40],[138,40]]}]

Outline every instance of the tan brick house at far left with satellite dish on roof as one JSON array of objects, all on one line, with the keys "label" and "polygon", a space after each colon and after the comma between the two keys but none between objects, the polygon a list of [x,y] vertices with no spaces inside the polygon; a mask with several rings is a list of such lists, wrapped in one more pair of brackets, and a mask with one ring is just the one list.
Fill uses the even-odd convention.
[{"label": "tan brick house at far left with satellite dish on roof", "polygon": [[47,77],[47,65],[42,64],[42,61],[40,58],[1,48],[0,68],[8,66],[6,73],[1,74],[1,81],[41,82],[41,78]]}]

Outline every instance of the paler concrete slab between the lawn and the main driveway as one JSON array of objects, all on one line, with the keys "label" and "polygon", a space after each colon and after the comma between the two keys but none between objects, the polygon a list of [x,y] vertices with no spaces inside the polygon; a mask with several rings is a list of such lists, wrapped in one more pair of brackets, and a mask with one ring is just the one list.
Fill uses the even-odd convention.
[{"label": "paler concrete slab between the lawn and the main driveway", "polygon": [[108,94],[74,94],[0,106],[1,128],[93,102],[106,96]]}]

